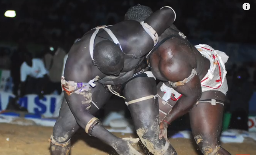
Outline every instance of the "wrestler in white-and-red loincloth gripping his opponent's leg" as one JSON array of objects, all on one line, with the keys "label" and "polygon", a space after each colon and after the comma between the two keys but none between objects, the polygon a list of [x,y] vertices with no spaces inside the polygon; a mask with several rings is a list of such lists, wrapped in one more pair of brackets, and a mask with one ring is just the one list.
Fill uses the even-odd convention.
[{"label": "wrestler in white-and-red loincloth gripping his opponent's leg", "polygon": [[[131,8],[126,19],[141,21],[150,15],[143,11],[144,6],[136,7],[139,11]],[[208,45],[194,47],[174,25],[159,37],[149,56],[152,73],[162,81],[157,86],[159,138],[167,139],[168,125],[189,112],[192,134],[201,152],[231,155],[219,141],[228,91],[224,65],[228,56]]]}]

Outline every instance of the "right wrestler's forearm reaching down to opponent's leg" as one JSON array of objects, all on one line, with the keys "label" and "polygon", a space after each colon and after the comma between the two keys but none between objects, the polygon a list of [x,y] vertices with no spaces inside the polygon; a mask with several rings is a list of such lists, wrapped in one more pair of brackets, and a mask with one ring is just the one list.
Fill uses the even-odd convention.
[{"label": "right wrestler's forearm reaching down to opponent's leg", "polygon": [[168,123],[172,123],[175,119],[178,119],[188,113],[193,108],[197,100],[198,98],[196,97],[187,97],[183,95],[168,112],[164,120]]}]

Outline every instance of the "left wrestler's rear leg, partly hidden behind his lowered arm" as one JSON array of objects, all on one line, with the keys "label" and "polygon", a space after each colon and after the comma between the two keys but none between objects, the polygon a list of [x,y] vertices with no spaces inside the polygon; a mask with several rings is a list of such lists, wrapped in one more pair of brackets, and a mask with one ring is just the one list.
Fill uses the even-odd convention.
[{"label": "left wrestler's rear leg, partly hidden behind his lowered arm", "polygon": [[[95,82],[96,87],[92,89],[92,105],[90,113],[96,113],[106,101],[111,97],[111,94],[106,89]],[[53,127],[53,136],[51,136],[51,155],[68,155],[70,150],[70,139],[73,134],[79,129],[79,125],[71,112],[66,99],[63,100],[59,110],[59,117]],[[66,145],[66,146],[65,146]],[[64,146],[64,147],[63,147]]]}]

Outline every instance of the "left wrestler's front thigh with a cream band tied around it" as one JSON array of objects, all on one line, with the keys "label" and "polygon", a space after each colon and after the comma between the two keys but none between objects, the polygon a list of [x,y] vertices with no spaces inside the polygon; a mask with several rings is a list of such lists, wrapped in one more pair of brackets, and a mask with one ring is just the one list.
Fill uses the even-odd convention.
[{"label": "left wrestler's front thigh with a cream band tied around it", "polygon": [[[138,98],[147,97],[150,95],[155,96],[157,88],[155,79],[151,77],[137,77],[127,82],[124,87],[125,101],[129,102]],[[154,97],[135,102],[128,105],[135,128],[139,129],[143,126],[151,126],[159,116],[158,102]],[[158,126],[158,124],[155,124]]]}]

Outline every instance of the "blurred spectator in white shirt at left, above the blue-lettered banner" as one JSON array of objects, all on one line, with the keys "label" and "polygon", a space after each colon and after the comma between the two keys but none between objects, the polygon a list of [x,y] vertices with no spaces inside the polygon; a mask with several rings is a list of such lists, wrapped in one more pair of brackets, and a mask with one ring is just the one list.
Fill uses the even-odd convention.
[{"label": "blurred spectator in white shirt at left, above the blue-lettered banner", "polygon": [[44,89],[49,82],[48,72],[43,61],[38,58],[32,58],[29,52],[25,53],[24,60],[20,67],[20,97],[25,94],[37,94],[42,98]]}]

